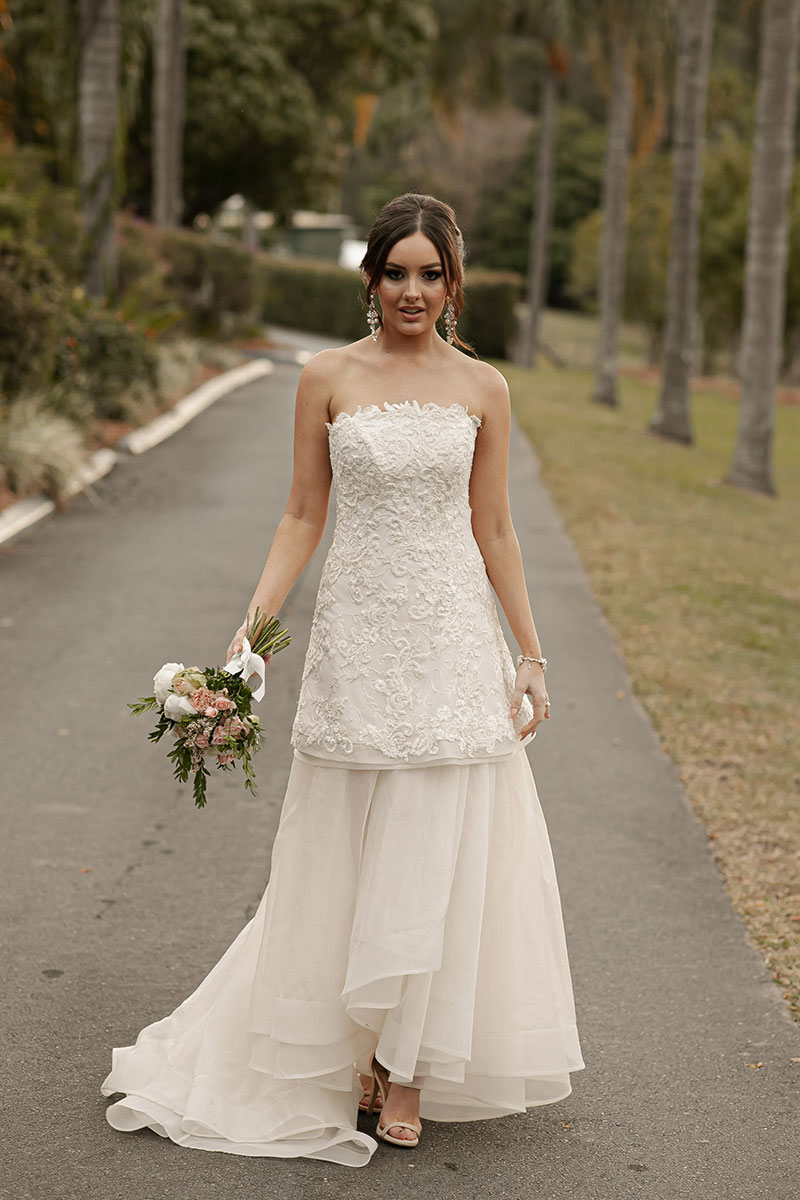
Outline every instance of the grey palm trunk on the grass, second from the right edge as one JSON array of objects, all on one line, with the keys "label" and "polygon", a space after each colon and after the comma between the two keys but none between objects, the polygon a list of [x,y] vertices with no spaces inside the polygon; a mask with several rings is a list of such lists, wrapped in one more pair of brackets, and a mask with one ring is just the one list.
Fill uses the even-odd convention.
[{"label": "grey palm trunk on the grass, second from the right edge", "polygon": [[681,13],[664,367],[658,409],[650,421],[652,433],[687,444],[693,442],[688,391],[694,361],[705,102],[715,4],[693,0],[684,5]]}]

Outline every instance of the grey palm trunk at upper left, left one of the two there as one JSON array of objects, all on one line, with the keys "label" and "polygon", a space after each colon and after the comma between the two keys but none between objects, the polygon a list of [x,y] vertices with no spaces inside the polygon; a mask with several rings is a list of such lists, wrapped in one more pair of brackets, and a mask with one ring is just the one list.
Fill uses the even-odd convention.
[{"label": "grey palm trunk at upper left, left one of the two there", "polygon": [[86,292],[102,299],[116,283],[115,143],[119,113],[118,0],[80,0],[80,199]]}]

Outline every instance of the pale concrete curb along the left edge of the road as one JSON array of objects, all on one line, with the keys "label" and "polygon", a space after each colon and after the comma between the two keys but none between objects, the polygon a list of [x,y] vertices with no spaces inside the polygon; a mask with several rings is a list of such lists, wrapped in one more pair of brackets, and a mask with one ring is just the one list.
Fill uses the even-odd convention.
[{"label": "pale concrete curb along the left edge of the road", "polygon": [[[127,454],[143,454],[145,450],[150,450],[151,446],[158,445],[160,442],[172,437],[173,433],[178,433],[188,421],[198,416],[204,409],[209,408],[229,391],[234,391],[236,388],[241,388],[246,383],[252,383],[263,376],[271,374],[272,371],[275,371],[275,366],[266,359],[245,362],[240,367],[224,371],[213,379],[209,379],[207,383],[201,384],[194,391],[188,392],[168,413],[156,416],[148,425],[143,425],[140,430],[134,430],[132,433],[126,434],[118,443],[119,449],[127,451]],[[95,450],[74,479],[67,485],[65,490],[66,496],[77,496],[78,492],[91,487],[103,475],[108,475],[122,457],[125,455],[119,454],[118,450]],[[24,533],[25,529],[36,524],[37,521],[42,521],[52,512],[55,512],[55,502],[43,493],[28,496],[25,499],[8,505],[4,512],[0,512],[0,546],[6,541],[11,541],[18,534]]]}]

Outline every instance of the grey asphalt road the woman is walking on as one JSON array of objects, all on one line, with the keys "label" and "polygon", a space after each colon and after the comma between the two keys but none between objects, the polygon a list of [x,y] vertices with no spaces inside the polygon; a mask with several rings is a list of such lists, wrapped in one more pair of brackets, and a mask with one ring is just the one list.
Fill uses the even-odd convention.
[{"label": "grey asphalt road the woman is walking on", "polygon": [[266,883],[323,551],[284,610],[255,798],[223,776],[196,811],[126,701],[163,661],[224,654],[285,500],[296,376],[278,366],[0,551],[2,1196],[795,1200],[800,1031],[519,433],[512,504],[553,700],[530,755],[587,1061],[572,1096],[429,1121],[419,1151],[381,1146],[359,1171],[106,1123],[112,1046],[193,990]]}]

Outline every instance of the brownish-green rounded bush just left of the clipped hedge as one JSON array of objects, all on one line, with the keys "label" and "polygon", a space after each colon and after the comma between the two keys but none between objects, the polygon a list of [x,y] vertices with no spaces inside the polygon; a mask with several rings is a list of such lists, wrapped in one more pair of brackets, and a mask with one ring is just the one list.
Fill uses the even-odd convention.
[{"label": "brownish-green rounded bush just left of the clipped hedge", "polygon": [[259,307],[253,254],[235,241],[175,230],[161,238],[167,283],[191,320],[192,331],[230,331],[235,320],[252,318]]}]

